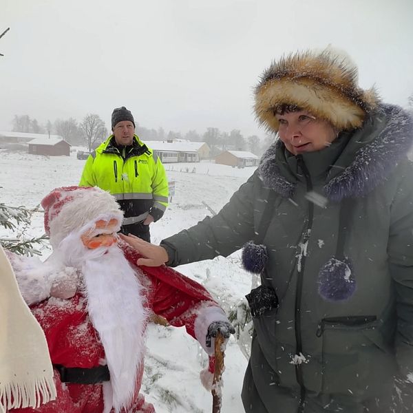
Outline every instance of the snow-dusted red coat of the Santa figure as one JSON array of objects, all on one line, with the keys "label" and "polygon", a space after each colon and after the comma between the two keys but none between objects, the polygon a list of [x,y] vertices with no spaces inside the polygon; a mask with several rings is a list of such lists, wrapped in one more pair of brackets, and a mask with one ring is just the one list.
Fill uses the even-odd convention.
[{"label": "snow-dusted red coat of the Santa figure", "polygon": [[[138,254],[123,245],[125,257],[134,264]],[[165,317],[171,326],[185,326],[195,337],[194,321],[197,309],[218,306],[211,295],[200,284],[166,266],[142,267],[138,277],[145,286],[147,306],[153,313]],[[138,273],[138,272],[137,272]],[[53,297],[32,306],[32,313],[45,332],[52,363],[67,368],[93,368],[105,359],[105,351],[100,343],[87,314],[87,300],[81,293],[67,300]],[[213,363],[209,370],[213,369]],[[153,405],[145,403],[139,394],[143,366],[138,372],[136,395],[130,413],[153,413]],[[103,412],[102,384],[82,385],[65,383],[62,385],[59,373],[54,374],[57,398],[37,409],[14,409],[14,413],[101,413]],[[128,413],[129,413],[128,412]]]}]

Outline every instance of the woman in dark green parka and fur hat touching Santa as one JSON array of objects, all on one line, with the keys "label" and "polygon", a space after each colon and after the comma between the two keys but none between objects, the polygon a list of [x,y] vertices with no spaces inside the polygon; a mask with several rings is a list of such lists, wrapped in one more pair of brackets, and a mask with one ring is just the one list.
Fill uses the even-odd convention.
[{"label": "woman in dark green parka and fur hat touching Santa", "polygon": [[413,411],[413,120],[357,85],[334,52],[275,62],[255,113],[277,133],[218,215],[139,264],[178,266],[244,246],[248,413]]}]

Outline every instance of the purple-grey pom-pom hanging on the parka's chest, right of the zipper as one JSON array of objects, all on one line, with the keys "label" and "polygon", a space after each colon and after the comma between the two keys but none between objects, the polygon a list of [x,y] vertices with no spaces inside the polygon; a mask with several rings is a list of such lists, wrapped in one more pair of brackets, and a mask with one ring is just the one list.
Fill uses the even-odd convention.
[{"label": "purple-grey pom-pom hanging on the parka's chest, right of the zipper", "polygon": [[356,290],[356,279],[350,260],[330,258],[321,267],[318,284],[319,295],[327,301],[345,301],[352,297]]}]

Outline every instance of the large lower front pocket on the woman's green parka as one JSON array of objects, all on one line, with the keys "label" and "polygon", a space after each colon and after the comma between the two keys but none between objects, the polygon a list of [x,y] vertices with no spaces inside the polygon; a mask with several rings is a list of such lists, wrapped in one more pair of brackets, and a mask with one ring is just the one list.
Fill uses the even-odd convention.
[{"label": "large lower front pocket on the woman's green parka", "polygon": [[392,380],[396,371],[394,352],[385,343],[375,315],[322,319],[321,392],[355,397],[374,395]]}]

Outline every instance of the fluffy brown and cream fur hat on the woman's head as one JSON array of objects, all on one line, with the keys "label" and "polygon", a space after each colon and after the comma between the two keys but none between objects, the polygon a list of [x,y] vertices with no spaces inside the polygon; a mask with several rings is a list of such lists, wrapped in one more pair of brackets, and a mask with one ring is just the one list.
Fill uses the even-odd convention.
[{"label": "fluffy brown and cream fur hat on the woman's head", "polygon": [[377,106],[374,89],[357,85],[357,67],[332,50],[297,52],[273,62],[255,88],[255,114],[269,131],[277,131],[275,109],[297,105],[339,130],[361,127]]}]

